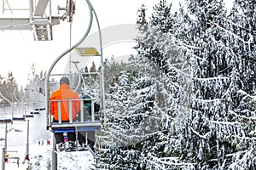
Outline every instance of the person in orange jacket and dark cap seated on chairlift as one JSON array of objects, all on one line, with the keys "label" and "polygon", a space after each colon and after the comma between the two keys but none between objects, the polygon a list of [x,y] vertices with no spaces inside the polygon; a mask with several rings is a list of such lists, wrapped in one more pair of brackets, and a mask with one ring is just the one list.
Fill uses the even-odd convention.
[{"label": "person in orange jacket and dark cap seated on chairlift", "polygon": [[[60,88],[57,89],[53,94],[50,96],[50,113],[53,115],[53,122],[58,122],[58,101],[61,101],[61,122],[69,122],[69,119],[75,119],[76,116],[80,112],[80,101],[79,101],[79,94],[74,92],[69,87],[69,79],[67,77],[61,77],[60,81]],[[65,99],[74,99],[72,100],[72,117],[69,117],[69,102]],[[75,100],[78,99],[78,100]],[[75,141],[75,133],[68,133],[67,136],[69,141]],[[64,142],[63,134],[62,133],[55,133],[55,141],[56,144]]]}]

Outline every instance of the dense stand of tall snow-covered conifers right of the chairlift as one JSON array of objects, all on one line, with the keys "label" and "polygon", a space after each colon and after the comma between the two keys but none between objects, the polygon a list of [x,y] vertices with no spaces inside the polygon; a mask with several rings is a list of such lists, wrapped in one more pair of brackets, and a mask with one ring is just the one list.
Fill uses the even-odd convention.
[{"label": "dense stand of tall snow-covered conifers right of the chairlift", "polygon": [[101,169],[254,169],[256,1],[139,8],[137,56],[106,72]]}]

